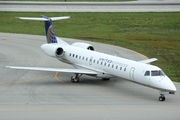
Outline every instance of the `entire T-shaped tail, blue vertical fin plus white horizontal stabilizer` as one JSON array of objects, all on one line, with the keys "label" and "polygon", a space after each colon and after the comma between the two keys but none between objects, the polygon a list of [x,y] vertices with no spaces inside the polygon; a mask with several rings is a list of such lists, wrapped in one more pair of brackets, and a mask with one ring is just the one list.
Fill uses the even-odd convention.
[{"label": "entire T-shaped tail, blue vertical fin plus white horizontal stabilizer", "polygon": [[41,15],[42,18],[29,18],[29,17],[18,17],[19,19],[24,19],[24,20],[39,20],[39,21],[44,21],[45,24],[45,30],[46,30],[46,39],[47,43],[58,43],[56,33],[54,31],[53,25],[51,21],[54,20],[62,20],[62,19],[68,19],[70,18],[69,16],[65,17],[52,17],[48,18],[46,16]]}]

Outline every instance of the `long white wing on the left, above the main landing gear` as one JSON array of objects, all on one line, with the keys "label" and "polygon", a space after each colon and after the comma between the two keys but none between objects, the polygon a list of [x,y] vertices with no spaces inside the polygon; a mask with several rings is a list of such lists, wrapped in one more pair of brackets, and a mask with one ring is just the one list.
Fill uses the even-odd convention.
[{"label": "long white wing on the left, above the main landing gear", "polygon": [[12,69],[23,69],[23,70],[38,70],[38,71],[54,71],[64,73],[79,73],[79,74],[91,74],[97,75],[97,72],[85,69],[64,69],[64,68],[43,68],[43,67],[17,67],[17,66],[6,66]]}]

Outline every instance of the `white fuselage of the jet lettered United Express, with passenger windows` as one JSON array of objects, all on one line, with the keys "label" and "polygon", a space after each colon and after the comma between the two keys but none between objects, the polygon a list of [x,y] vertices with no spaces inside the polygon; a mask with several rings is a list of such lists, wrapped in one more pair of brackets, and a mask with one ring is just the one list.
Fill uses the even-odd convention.
[{"label": "white fuselage of the jet lettered United Express, with passenger windows", "polygon": [[137,61],[124,59],[96,51],[65,45],[65,54],[60,61],[78,69],[88,69],[98,74],[96,77],[120,77],[161,91],[175,92],[176,88],[166,75],[145,76],[146,71],[159,71],[160,68]]}]

